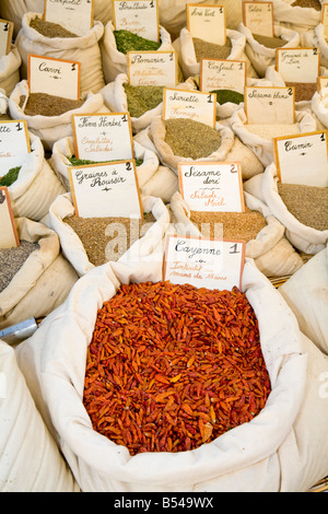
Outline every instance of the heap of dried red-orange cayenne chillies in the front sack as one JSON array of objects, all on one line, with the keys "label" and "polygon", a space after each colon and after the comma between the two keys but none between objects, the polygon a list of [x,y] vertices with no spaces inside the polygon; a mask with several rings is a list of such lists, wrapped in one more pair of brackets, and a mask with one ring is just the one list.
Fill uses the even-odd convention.
[{"label": "heap of dried red-orange cayenne chillies in the front sack", "polygon": [[124,284],[98,309],[83,404],[93,429],[141,452],[184,452],[249,422],[271,384],[245,293]]}]

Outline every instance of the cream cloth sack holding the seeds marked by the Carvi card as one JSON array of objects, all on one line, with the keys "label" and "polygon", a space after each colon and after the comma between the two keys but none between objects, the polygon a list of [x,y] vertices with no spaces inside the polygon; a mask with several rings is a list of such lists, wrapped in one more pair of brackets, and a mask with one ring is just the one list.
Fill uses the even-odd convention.
[{"label": "cream cloth sack holding the seeds marked by the Carvi card", "polygon": [[44,144],[45,150],[50,151],[56,141],[61,138],[73,136],[72,115],[73,114],[97,114],[108,113],[108,108],[104,105],[104,98],[99,93],[87,93],[81,107],[60,116],[27,116],[23,108],[20,107],[21,96],[28,96],[28,83],[26,80],[19,82],[9,97],[9,112],[13,119],[25,119],[27,128],[31,132],[38,136]]}]

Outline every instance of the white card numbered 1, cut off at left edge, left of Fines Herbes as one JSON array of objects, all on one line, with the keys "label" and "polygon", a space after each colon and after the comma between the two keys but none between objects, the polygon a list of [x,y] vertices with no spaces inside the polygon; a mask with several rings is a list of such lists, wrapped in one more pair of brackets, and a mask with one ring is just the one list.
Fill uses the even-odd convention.
[{"label": "white card numbered 1, cut off at left edge, left of Fines Herbes", "polygon": [[24,119],[0,121],[0,176],[21,166],[31,152],[27,124]]}]

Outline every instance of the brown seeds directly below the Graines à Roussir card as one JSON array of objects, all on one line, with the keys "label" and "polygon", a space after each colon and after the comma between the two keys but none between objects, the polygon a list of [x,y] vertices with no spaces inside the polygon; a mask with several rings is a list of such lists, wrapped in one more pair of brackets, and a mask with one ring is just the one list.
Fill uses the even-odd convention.
[{"label": "brown seeds directly below the Graines \u00e0 Roussir card", "polygon": [[143,214],[143,219],[80,218],[73,214],[62,221],[80,237],[90,262],[102,266],[108,260],[118,260],[156,220],[149,212]]}]

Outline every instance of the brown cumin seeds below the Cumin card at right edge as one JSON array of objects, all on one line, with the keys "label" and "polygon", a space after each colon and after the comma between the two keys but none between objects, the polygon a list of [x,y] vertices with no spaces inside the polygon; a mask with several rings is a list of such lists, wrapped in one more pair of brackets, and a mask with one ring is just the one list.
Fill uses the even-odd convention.
[{"label": "brown cumin seeds below the Cumin card at right edge", "polygon": [[277,184],[289,212],[306,226],[328,230],[328,187]]}]

